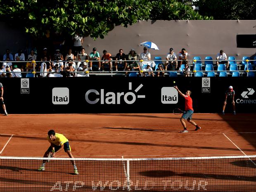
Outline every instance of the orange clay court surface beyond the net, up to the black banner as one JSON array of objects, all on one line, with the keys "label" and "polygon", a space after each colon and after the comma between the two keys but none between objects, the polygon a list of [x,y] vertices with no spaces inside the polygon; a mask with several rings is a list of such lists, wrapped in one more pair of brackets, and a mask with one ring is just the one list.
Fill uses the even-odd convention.
[{"label": "orange clay court surface beyond the net, up to the black banner", "polygon": [[255,114],[194,114],[202,128],[194,131],[187,123],[188,133],[179,133],[179,119],[174,114],[0,115],[0,155],[42,157],[50,129],[69,139],[77,158],[255,155]]}]

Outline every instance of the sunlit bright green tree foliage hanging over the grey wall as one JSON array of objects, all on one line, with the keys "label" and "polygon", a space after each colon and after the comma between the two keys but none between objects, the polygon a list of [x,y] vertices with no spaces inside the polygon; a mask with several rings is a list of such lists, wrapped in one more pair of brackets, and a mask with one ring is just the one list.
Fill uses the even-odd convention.
[{"label": "sunlit bright green tree foliage hanging over the grey wall", "polygon": [[177,0],[2,0],[0,15],[36,38],[49,32],[104,38],[114,26],[138,20],[211,19]]}]

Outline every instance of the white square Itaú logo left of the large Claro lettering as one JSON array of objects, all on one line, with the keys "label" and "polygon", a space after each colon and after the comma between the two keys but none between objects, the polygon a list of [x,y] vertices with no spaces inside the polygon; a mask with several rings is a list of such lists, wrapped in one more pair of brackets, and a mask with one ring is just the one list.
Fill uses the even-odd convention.
[{"label": "white square Ita\u00fa logo left of the large Claro lettering", "polygon": [[52,103],[69,104],[69,88],[53,88]]}]

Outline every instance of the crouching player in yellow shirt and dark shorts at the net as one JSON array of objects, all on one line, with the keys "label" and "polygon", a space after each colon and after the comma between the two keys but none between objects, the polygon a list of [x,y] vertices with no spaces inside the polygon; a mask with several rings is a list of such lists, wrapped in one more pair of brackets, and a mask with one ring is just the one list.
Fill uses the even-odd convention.
[{"label": "crouching player in yellow shirt and dark shorts at the net", "polygon": [[[50,142],[51,146],[47,149],[43,157],[54,157],[57,152],[60,152],[62,148],[69,155],[70,158],[74,158],[71,153],[71,147],[69,145],[69,140],[60,133],[55,133],[54,130],[48,131],[47,140]],[[45,163],[47,160],[43,160],[42,166],[38,171],[45,170]],[[74,166],[74,174],[78,175],[78,170],[76,168],[75,161],[71,160],[72,165]]]}]

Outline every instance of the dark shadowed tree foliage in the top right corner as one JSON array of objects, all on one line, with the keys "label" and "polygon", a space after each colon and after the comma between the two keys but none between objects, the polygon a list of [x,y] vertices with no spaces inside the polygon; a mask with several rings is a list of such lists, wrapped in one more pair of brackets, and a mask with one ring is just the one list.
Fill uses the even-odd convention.
[{"label": "dark shadowed tree foliage in the top right corner", "polygon": [[251,0],[198,0],[199,14],[219,20],[255,20],[256,1]]}]

